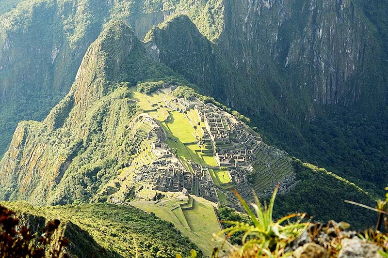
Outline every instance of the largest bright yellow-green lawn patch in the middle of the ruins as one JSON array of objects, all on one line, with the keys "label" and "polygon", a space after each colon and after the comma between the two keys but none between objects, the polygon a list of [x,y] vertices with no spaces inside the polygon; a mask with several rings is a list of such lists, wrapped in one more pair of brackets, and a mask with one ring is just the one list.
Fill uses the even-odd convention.
[{"label": "largest bright yellow-green lawn patch in the middle of the ruins", "polygon": [[182,143],[191,143],[196,141],[193,136],[193,133],[195,132],[194,128],[191,126],[184,114],[173,111],[170,112],[170,117],[171,120],[166,121],[166,124],[175,137],[178,137]]}]

